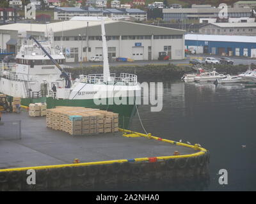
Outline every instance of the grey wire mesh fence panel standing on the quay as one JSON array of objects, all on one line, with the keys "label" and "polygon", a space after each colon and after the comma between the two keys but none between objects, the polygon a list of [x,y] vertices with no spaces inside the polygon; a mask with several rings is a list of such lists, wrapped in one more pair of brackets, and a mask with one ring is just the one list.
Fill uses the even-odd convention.
[{"label": "grey wire mesh fence panel standing on the quay", "polygon": [[21,139],[21,120],[1,121],[0,140]]}]

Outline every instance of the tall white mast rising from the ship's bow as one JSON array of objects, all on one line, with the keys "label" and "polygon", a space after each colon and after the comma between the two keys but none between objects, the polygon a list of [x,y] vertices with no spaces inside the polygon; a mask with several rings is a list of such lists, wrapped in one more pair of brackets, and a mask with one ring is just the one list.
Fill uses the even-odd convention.
[{"label": "tall white mast rising from the ship's bow", "polygon": [[101,22],[101,33],[102,33],[102,49],[103,49],[103,82],[107,83],[110,81],[109,64],[108,64],[108,46],[106,41],[106,33],[104,20]]}]

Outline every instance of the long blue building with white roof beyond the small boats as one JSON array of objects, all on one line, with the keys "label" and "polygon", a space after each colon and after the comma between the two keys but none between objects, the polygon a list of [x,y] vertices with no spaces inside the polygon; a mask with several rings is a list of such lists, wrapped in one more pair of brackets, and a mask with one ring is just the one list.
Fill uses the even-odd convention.
[{"label": "long blue building with white roof beyond the small boats", "polygon": [[185,47],[195,54],[256,58],[256,36],[186,34]]}]

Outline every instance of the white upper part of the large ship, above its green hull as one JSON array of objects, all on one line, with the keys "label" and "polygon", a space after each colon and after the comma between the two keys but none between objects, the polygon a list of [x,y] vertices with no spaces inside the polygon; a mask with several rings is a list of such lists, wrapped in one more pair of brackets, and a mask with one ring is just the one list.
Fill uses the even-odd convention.
[{"label": "white upper part of the large ship, above its green hull", "polygon": [[[65,57],[61,47],[52,47],[52,38],[53,36],[49,41],[41,41],[40,45],[61,65]],[[103,20],[102,47],[103,75],[80,75],[70,87],[67,85],[67,78],[61,77],[63,70],[54,65],[36,43],[31,40],[23,41],[16,57],[17,64],[8,70],[3,66],[1,70],[0,92],[20,98],[97,99],[113,98],[116,94],[118,97],[127,97],[131,91],[140,91],[136,75],[121,73],[120,77],[116,77],[115,74],[109,73]],[[56,86],[56,92],[52,89],[53,85]]]}]

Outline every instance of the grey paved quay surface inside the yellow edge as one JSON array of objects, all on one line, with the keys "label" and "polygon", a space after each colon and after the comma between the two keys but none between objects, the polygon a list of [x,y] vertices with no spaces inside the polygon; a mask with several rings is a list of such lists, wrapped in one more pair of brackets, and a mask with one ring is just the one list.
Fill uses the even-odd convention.
[{"label": "grey paved quay surface inside the yellow edge", "polygon": [[[122,133],[71,136],[46,128],[45,117],[29,117],[27,112],[3,113],[4,124],[21,120],[21,139],[6,140],[8,129],[0,126],[0,169],[132,159],[140,157],[193,154],[196,150],[148,138],[127,138]],[[4,135],[6,136],[6,135]]]}]

